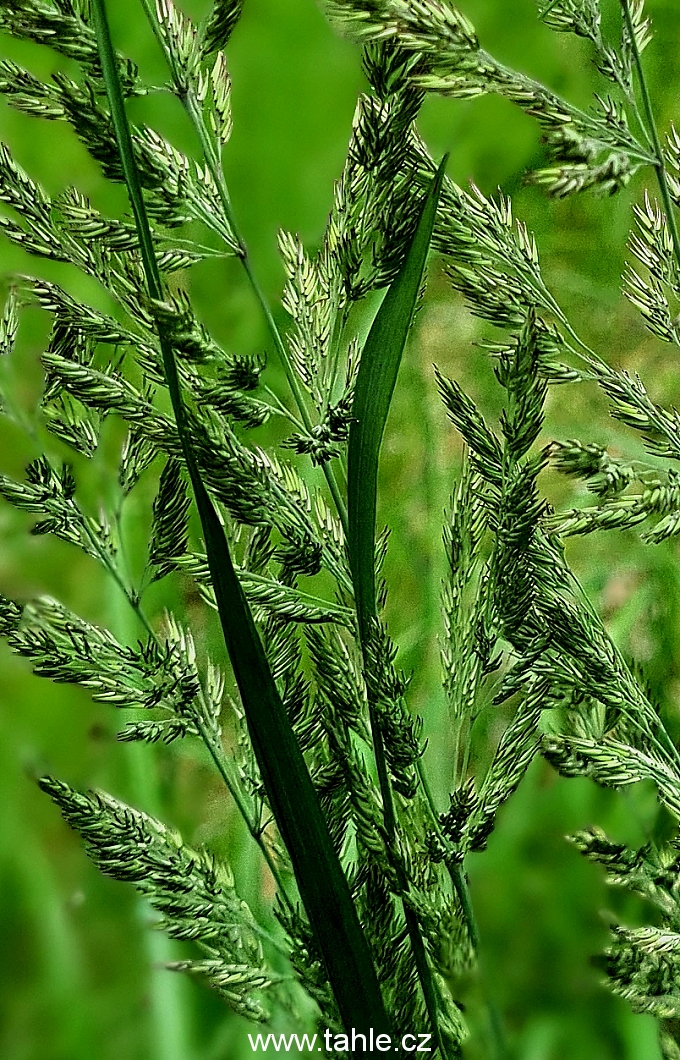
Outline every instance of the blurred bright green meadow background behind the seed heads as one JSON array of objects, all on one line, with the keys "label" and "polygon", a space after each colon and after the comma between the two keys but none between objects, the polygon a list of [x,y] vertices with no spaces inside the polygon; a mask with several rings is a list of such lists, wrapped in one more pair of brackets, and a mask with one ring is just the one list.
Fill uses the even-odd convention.
[{"label": "blurred bright green meadow background behind the seed heads", "polygon": [[[190,14],[207,4],[189,3]],[[482,43],[502,60],[588,105],[597,75],[583,41],[560,37],[536,18],[534,0],[465,0]],[[678,113],[680,13],[674,0],[650,0],[657,37],[646,54],[662,126]],[[135,0],[110,3],[119,46],[162,84],[162,60]],[[611,0],[612,14],[616,0]],[[0,39],[2,54],[48,75],[62,67],[46,49]],[[279,228],[299,232],[309,248],[321,237],[341,171],[357,93],[363,78],[358,50],[339,39],[314,0],[247,0],[229,48],[234,134],[226,169],[236,213],[264,287],[276,302],[283,282],[275,250]],[[165,96],[135,108],[183,149],[195,144],[179,105]],[[76,184],[108,212],[123,211],[120,188],[106,184],[84,148],[61,125],[17,114],[0,104],[1,137],[29,173],[52,194]],[[620,295],[630,204],[645,174],[615,199],[548,201],[522,186],[541,158],[535,123],[498,99],[468,103],[428,100],[420,129],[435,156],[451,152],[449,173],[486,193],[513,194],[516,213],[536,232],[543,268],[560,303],[584,337],[619,365],[640,370],[657,400],[678,400],[677,365],[642,328]],[[5,241],[0,272],[29,271],[55,279],[73,294],[106,305],[92,283],[73,269],[29,260]],[[448,289],[436,266],[406,358],[391,414],[381,483],[382,517],[393,527],[386,573],[389,616],[400,664],[413,671],[411,704],[423,714],[428,763],[445,806],[448,764],[437,755],[447,721],[439,691],[437,594],[442,510],[459,466],[460,446],[446,424],[433,386],[435,360],[455,375],[489,417],[500,389],[475,342],[488,333]],[[256,353],[267,335],[234,262],[197,267],[187,277],[195,304],[230,349]],[[38,357],[49,322],[24,315],[17,357],[0,366],[3,386],[30,408],[40,392]],[[283,382],[271,365],[272,384]],[[598,441],[632,453],[633,439],[607,419],[606,404],[587,388],[561,388],[549,400],[545,435]],[[106,498],[120,430],[104,453],[76,471],[95,510]],[[37,453],[3,425],[2,471],[20,476]],[[545,479],[556,502],[570,487]],[[153,493],[131,501],[127,528],[143,543]],[[31,519],[0,508],[0,591],[17,599],[49,593],[121,637],[139,631],[115,587],[95,564],[67,545],[31,537]],[[677,548],[643,547],[633,534],[605,534],[570,544],[583,583],[624,650],[645,667],[654,694],[674,731],[678,724],[680,582]],[[174,601],[190,613],[198,637],[204,617],[194,599]],[[158,595],[156,602],[160,607]],[[171,601],[173,602],[173,601]],[[0,648],[0,1058],[1,1060],[239,1060],[249,1029],[200,984],[160,969],[177,949],[148,931],[149,914],[126,885],[102,878],[78,842],[31,779],[49,768],[75,785],[100,785],[159,812],[192,843],[228,856],[244,894],[266,902],[260,863],[245,842],[209,763],[192,746],[122,746],[122,719],[93,705],[79,689],[33,677]],[[488,739],[498,722],[488,718]],[[441,741],[440,741],[441,744]],[[593,964],[607,941],[607,924],[643,923],[642,903],[612,893],[602,873],[565,842],[591,824],[613,837],[645,842],[657,818],[646,788],[624,799],[581,781],[559,779],[541,762],[499,817],[488,850],[469,863],[482,949],[479,980],[460,985],[473,1031],[466,1055],[491,1058],[482,996],[496,1003],[508,1050],[517,1060],[657,1060],[651,1021],[632,1015],[602,985]],[[266,881],[265,890],[266,890]]]}]

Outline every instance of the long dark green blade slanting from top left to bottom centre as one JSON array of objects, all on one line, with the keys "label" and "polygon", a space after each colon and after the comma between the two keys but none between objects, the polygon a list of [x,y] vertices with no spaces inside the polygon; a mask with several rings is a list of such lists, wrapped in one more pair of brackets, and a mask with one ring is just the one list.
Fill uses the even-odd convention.
[{"label": "long dark green blade slanting from top left to bottom centre", "polygon": [[[148,290],[162,285],[125,113],[104,0],[93,0],[97,45],[125,181],[135,213]],[[227,650],[241,695],[271,809],[288,848],[328,979],[345,1027],[390,1031],[371,952],[335,852],[304,758],[276,690],[225,532],[192,450],[172,340],[159,325],[163,365],[186,467],[205,538]]]}]

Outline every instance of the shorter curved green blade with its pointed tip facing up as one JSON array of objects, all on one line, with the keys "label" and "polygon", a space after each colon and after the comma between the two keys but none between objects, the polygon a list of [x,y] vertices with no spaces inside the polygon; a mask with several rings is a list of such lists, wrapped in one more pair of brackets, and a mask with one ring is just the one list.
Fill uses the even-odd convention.
[{"label": "shorter curved green blade with its pointed tip facing up", "polygon": [[347,517],[352,582],[365,644],[376,616],[375,519],[378,460],[392,394],[423,282],[448,155],[426,196],[401,269],[388,290],[363,346],[347,449]]}]

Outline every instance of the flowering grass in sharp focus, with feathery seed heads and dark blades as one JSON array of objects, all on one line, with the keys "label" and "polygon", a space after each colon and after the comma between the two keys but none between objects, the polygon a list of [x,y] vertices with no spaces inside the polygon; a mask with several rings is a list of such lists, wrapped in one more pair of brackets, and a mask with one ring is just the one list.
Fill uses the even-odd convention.
[{"label": "flowering grass in sharp focus, with feathery seed heads and dark blades", "polygon": [[[51,196],[0,151],[4,236],[74,267],[97,292],[88,301],[54,280],[7,279],[6,361],[31,307],[50,315],[52,330],[38,407],[4,386],[3,413],[38,455],[23,478],[0,476],[0,494],[37,517],[34,534],[105,571],[127,635],[52,597],[3,596],[0,632],[35,674],[129,711],[122,742],[201,746],[275,898],[266,907],[254,888],[246,902],[238,865],[186,842],[156,806],[51,773],[39,787],[95,865],[132,883],[157,925],[191,944],[167,966],[202,977],[253,1025],[327,1029],[330,1052],[355,1057],[371,1052],[370,1035],[388,1036],[400,1054],[412,1052],[405,1036],[424,1035],[443,1060],[519,1060],[493,996],[478,996],[466,1020],[469,984],[484,992],[472,855],[540,758],[605,789],[646,782],[660,809],[644,845],[595,826],[572,841],[646,902],[647,922],[612,929],[603,968],[612,991],[657,1022],[664,1060],[677,1060],[677,719],[608,628],[566,542],[633,535],[643,524],[649,547],[673,541],[680,419],[584,337],[509,197],[461,188],[417,126],[433,95],[498,95],[537,123],[544,157],[529,182],[553,202],[614,196],[638,181],[624,293],[655,339],[678,347],[680,138],[670,128],[664,141],[656,123],[648,13],[643,0],[539,5],[545,25],[581,38],[594,58],[600,84],[585,108],[495,58],[448,0],[324,0],[323,11],[361,46],[368,88],[319,246],[280,235],[280,312],[222,169],[240,0],[214,0],[197,20],[172,0],[141,0],[165,63],[161,88],[115,50],[105,0],[0,0],[3,33],[49,46],[64,63],[43,80],[3,60],[7,103],[69,125],[126,193],[109,212],[76,188]],[[159,92],[181,108],[197,157],[133,120]],[[484,348],[498,384],[491,422],[451,373],[430,376],[462,444],[435,568],[439,623],[427,595],[446,701],[437,727],[427,700],[424,720],[410,702],[418,674],[397,665],[378,489],[430,249],[450,297],[490,325]],[[218,342],[194,306],[192,269],[225,259],[258,307],[281,385],[264,358]],[[551,395],[589,387],[627,428],[630,456],[591,437],[549,437]],[[113,479],[83,489],[78,472],[87,479],[88,462],[112,446]],[[570,496],[559,475],[585,483],[589,501],[549,502],[545,490]],[[146,543],[125,517],[138,497],[150,500]],[[190,586],[203,602],[201,637]],[[434,756],[446,764],[432,776]]]}]

